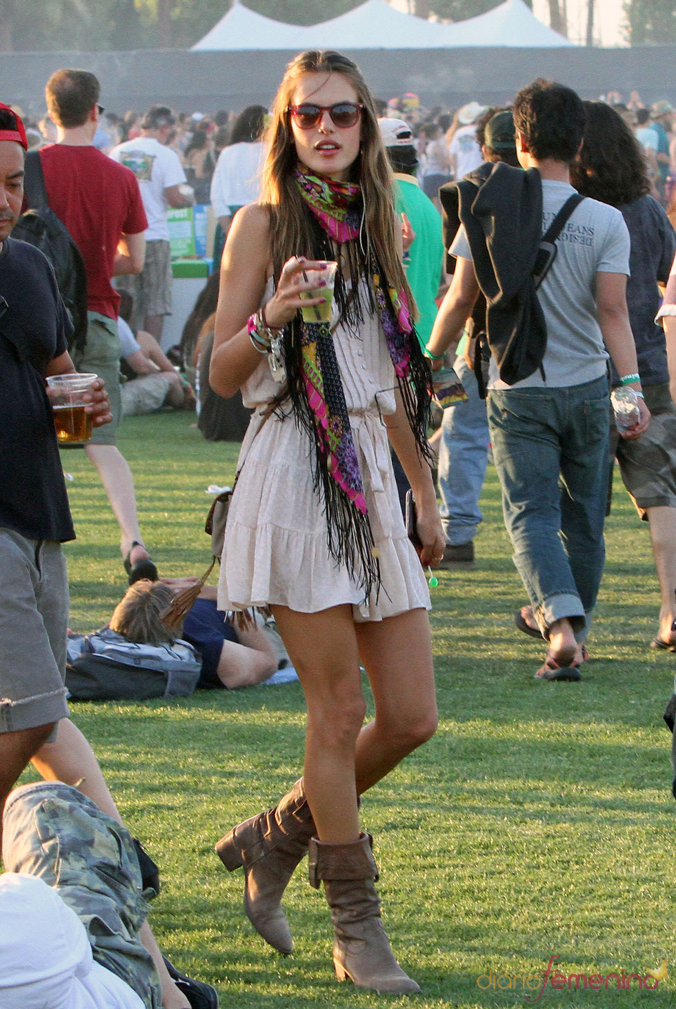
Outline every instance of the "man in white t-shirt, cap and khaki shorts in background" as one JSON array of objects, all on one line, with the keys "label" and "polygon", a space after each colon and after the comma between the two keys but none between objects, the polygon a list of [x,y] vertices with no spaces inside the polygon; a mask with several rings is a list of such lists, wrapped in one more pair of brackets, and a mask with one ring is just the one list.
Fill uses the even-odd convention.
[{"label": "man in white t-shirt, cap and khaki shorts in background", "polygon": [[176,119],[165,105],[151,105],[143,116],[141,135],[113,147],[110,156],[131,169],[138,180],[148,227],[145,264],[137,276],[118,282],[118,289],[134,299],[133,320],[159,342],[164,316],[172,313],[172,257],[166,211],[190,207],[193,199],[182,192],[186,173],[177,152],[167,146]]}]

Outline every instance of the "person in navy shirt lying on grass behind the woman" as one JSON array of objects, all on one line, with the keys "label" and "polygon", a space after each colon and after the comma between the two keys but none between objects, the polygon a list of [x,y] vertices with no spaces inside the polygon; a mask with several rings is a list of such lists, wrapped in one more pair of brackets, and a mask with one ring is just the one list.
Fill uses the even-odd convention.
[{"label": "person in navy shirt lying on grass behind the woman", "polygon": [[256,686],[277,670],[277,657],[265,633],[258,627],[235,631],[226,614],[216,606],[216,588],[203,585],[186,615],[183,630],[172,632],[162,614],[175,593],[195,584],[195,578],[137,581],[113,610],[110,628],[139,645],[161,645],[183,638],[202,657],[197,688]]}]

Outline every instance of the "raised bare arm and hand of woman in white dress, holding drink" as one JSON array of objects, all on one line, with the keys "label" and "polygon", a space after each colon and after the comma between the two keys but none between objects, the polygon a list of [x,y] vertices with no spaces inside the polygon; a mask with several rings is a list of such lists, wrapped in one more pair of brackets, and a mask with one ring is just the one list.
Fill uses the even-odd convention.
[{"label": "raised bare arm and hand of woman in white dress, holding drink", "polygon": [[[320,305],[323,298],[301,301],[300,293],[317,288],[303,281],[304,269],[319,269],[322,262],[294,257],[285,263],[276,291],[265,306],[272,329],[281,329],[302,305]],[[209,382],[226,399],[251,377],[260,363],[246,329],[260,306],[270,272],[269,218],[258,204],[242,207],[235,216],[221,260],[221,287],[216,309],[214,349]]]}]

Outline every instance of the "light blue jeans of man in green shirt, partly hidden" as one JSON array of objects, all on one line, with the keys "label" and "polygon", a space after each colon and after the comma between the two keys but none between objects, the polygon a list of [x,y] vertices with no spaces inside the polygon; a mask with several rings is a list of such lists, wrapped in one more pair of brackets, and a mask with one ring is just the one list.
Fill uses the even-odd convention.
[{"label": "light blue jeans of man in green shirt, partly hidden", "polygon": [[474,539],[483,521],[479,497],[488,459],[488,421],[474,372],[463,357],[456,357],[453,366],[469,399],[448,407],[441,422],[439,514],[446,542],[459,546]]}]

